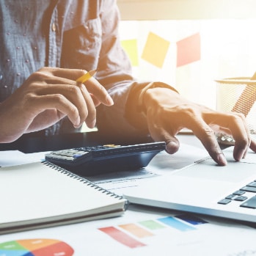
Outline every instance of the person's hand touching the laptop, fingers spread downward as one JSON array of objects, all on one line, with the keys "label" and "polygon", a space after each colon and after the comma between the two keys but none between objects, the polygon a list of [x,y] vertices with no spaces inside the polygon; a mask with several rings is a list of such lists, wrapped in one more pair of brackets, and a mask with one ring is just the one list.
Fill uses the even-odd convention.
[{"label": "person's hand touching the laptop, fingers spread downward", "polygon": [[216,132],[233,136],[233,156],[236,161],[246,156],[248,147],[256,152],[256,143],[250,139],[243,114],[213,111],[180,97],[177,92],[168,88],[147,89],[143,104],[147,109],[150,135],[156,141],[165,141],[170,154],[179,149],[180,145],[175,136],[182,128],[193,131],[219,165],[226,165],[227,161],[216,140]]}]

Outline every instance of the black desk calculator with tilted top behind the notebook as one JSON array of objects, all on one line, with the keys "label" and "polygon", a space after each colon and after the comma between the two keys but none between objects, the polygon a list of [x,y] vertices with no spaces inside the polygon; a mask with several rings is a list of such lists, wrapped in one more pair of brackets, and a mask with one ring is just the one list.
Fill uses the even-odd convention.
[{"label": "black desk calculator with tilted top behind the notebook", "polygon": [[91,176],[141,169],[164,149],[165,142],[99,145],[52,151],[45,154],[45,160],[77,175]]}]

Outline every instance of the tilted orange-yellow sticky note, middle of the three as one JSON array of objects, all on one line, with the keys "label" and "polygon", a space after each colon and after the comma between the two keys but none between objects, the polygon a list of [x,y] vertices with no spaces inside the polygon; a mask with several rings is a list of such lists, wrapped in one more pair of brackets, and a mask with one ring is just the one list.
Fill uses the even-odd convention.
[{"label": "tilted orange-yellow sticky note, middle of the three", "polygon": [[169,44],[168,40],[150,32],[147,36],[147,42],[142,52],[142,59],[145,59],[156,67],[163,67],[164,59],[167,56],[167,51],[169,49]]}]

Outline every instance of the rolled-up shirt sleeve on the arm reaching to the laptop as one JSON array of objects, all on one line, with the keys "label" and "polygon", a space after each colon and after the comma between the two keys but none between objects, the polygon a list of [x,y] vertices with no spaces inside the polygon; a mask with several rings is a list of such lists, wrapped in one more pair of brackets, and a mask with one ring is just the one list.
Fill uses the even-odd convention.
[{"label": "rolled-up shirt sleeve on the arm reaching to the laptop", "polygon": [[101,1],[100,18],[103,38],[96,78],[108,90],[114,106],[98,106],[98,130],[104,138],[148,141],[150,136],[145,114],[136,111],[139,93],[149,84],[173,88],[157,81],[137,81],[132,76],[131,62],[120,43],[120,13],[115,0]]}]

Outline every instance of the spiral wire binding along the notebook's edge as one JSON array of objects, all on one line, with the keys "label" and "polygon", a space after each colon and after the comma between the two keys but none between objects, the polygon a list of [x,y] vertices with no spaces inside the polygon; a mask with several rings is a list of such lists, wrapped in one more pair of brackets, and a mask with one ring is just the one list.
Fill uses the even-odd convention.
[{"label": "spiral wire binding along the notebook's edge", "polygon": [[[98,190],[102,193],[106,193],[110,197],[115,197],[115,198],[120,199],[120,200],[125,199],[125,197],[122,197],[118,194],[114,194],[113,192],[111,192],[109,190],[103,189],[100,186],[96,185],[95,183],[92,183],[91,181],[87,180],[86,178],[82,178],[81,176],[78,176],[78,175],[74,174],[73,172],[67,171],[67,169],[59,167],[56,164],[52,164],[49,161],[42,161],[42,164],[45,164],[46,166],[51,167],[52,169],[56,169],[58,172],[61,172],[65,175],[69,176],[70,178],[76,179],[76,180],[78,180],[78,181],[80,181],[84,184],[87,184],[87,186],[90,186],[93,189],[96,189],[96,190]],[[127,206],[128,206],[128,200],[126,200],[126,202],[125,202],[125,210],[126,210]]]}]

